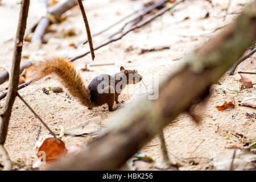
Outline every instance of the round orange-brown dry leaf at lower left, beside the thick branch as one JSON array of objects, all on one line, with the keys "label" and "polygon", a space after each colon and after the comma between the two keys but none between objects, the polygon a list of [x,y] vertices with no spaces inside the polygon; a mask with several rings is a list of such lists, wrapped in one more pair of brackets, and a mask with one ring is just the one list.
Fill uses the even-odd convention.
[{"label": "round orange-brown dry leaf at lower left, beside the thick branch", "polygon": [[43,155],[45,155],[47,163],[51,163],[53,161],[59,160],[60,158],[63,158],[67,152],[67,149],[65,147],[65,143],[62,140],[57,140],[59,140],[59,143],[53,137],[44,140],[42,146],[39,147],[37,154],[38,158],[43,157],[42,152],[45,152]]}]

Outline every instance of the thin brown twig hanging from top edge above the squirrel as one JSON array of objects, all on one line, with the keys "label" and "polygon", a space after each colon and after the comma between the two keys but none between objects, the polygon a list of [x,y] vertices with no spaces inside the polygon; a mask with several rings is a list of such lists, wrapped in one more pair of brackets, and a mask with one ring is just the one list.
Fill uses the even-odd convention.
[{"label": "thin brown twig hanging from top edge above the squirrel", "polygon": [[87,39],[88,39],[89,46],[90,46],[90,54],[92,55],[92,60],[94,60],[95,55],[94,55],[94,50],[93,50],[92,35],[90,35],[90,27],[89,27],[88,19],[85,14],[84,6],[82,5],[82,1],[77,0],[77,3],[79,4],[79,7],[80,7],[80,10],[82,13],[82,18],[84,19],[84,24],[85,24],[86,33],[87,33]]}]

